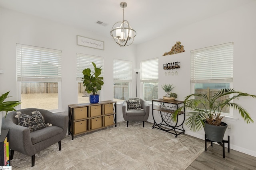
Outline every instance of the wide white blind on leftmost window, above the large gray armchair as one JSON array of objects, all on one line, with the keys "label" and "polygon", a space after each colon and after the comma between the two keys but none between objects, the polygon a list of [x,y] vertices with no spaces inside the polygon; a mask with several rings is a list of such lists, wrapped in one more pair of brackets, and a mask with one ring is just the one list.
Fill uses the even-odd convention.
[{"label": "wide white blind on leftmost window, above the large gray armchair", "polygon": [[17,44],[18,81],[61,81],[61,51]]}]

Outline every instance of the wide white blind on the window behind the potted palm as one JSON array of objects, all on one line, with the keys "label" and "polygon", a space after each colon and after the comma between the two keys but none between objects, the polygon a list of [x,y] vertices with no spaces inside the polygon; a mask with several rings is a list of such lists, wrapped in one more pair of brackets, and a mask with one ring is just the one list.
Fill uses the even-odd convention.
[{"label": "wide white blind on the window behind the potted palm", "polygon": [[191,82],[233,82],[233,42],[192,50]]}]

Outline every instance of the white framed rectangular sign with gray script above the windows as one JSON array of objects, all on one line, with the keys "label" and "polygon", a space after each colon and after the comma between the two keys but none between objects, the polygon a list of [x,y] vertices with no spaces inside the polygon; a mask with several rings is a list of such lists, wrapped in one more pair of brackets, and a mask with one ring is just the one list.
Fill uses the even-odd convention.
[{"label": "white framed rectangular sign with gray script above the windows", "polygon": [[84,47],[104,50],[104,41],[76,35],[76,44]]}]

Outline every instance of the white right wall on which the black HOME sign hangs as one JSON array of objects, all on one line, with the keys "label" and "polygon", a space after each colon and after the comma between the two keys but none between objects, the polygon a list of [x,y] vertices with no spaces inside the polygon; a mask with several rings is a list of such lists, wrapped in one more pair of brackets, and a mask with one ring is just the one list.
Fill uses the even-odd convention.
[{"label": "white right wall on which the black HOME sign hangs", "polygon": [[[222,43],[234,42],[234,89],[256,95],[256,2],[242,6],[224,14],[219,14],[207,20],[194,23],[178,30],[169,30],[164,36],[158,37],[137,47],[137,57],[141,60],[159,58],[159,86],[170,83],[175,86],[173,92],[178,94],[177,100],[183,100],[190,94],[190,51]],[[189,14],[188,14],[189,15]],[[171,18],[170,18],[171,20]],[[185,52],[162,57],[165,52],[180,41]],[[140,62],[137,61],[137,62]],[[178,76],[165,76],[164,63],[179,61],[181,68]],[[164,90],[159,88],[159,98],[164,96]],[[256,121],[256,99],[243,98],[238,101]],[[158,116],[159,117],[159,116]],[[231,125],[224,139],[230,135],[230,147],[256,156],[256,123],[246,124],[238,111],[234,111],[236,119],[224,118]],[[152,115],[148,119],[153,122]],[[191,132],[185,127],[186,133],[204,139],[204,131]]]}]

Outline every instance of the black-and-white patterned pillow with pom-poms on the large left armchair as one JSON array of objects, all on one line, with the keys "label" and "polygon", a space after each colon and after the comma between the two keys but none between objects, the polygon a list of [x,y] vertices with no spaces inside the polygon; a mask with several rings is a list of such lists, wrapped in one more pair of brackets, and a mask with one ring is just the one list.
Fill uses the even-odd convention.
[{"label": "black-and-white patterned pillow with pom-poms on the large left armchair", "polygon": [[18,125],[28,127],[30,132],[34,132],[52,125],[45,123],[44,117],[39,111],[33,111],[32,116],[22,114],[20,111],[17,111],[17,115],[15,117],[18,118]]}]

